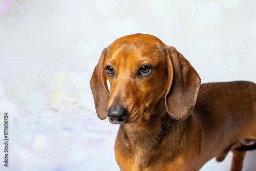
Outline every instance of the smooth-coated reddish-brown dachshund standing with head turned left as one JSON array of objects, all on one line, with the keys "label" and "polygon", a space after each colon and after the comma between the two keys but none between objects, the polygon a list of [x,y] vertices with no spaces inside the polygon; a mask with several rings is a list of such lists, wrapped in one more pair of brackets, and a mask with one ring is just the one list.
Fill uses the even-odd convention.
[{"label": "smooth-coated reddish-brown dachshund standing with head turned left", "polygon": [[200,87],[190,63],[155,36],[124,36],[104,49],[91,89],[98,117],[120,124],[121,170],[199,170],[230,150],[231,170],[241,170],[245,151],[256,148],[256,84]]}]

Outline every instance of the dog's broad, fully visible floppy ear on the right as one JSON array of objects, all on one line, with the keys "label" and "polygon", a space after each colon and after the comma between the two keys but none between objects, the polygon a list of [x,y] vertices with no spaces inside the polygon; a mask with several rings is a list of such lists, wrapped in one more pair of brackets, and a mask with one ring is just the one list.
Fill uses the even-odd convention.
[{"label": "dog's broad, fully visible floppy ear on the right", "polygon": [[184,120],[195,106],[201,79],[196,70],[174,47],[165,48],[164,54],[168,67],[166,109],[172,118]]}]

